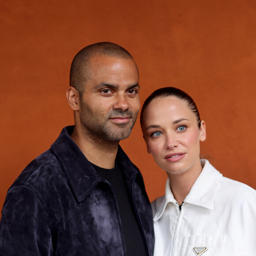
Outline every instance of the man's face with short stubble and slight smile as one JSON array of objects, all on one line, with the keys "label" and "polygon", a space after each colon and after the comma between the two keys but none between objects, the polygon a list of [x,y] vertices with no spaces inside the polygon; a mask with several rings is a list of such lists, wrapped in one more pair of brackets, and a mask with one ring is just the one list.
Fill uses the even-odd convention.
[{"label": "man's face with short stubble and slight smile", "polygon": [[83,136],[91,142],[126,139],[139,113],[139,74],[132,59],[94,56],[80,97]]}]

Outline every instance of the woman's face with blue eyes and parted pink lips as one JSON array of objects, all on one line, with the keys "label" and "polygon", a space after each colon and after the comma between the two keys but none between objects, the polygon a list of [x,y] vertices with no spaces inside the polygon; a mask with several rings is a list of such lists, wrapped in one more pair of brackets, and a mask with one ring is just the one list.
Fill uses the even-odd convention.
[{"label": "woman's face with blue eyes and parted pink lips", "polygon": [[205,123],[197,125],[186,102],[176,97],[154,98],[143,113],[147,151],[169,174],[199,172],[200,140],[206,138]]}]

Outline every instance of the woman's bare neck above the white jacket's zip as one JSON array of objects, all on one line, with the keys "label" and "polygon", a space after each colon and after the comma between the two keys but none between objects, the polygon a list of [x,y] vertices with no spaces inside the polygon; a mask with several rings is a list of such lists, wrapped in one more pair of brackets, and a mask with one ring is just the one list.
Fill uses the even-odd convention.
[{"label": "woman's bare neck above the white jacket's zip", "polygon": [[167,173],[170,181],[170,187],[173,196],[177,203],[181,205],[188,195],[190,189],[200,175],[203,167],[200,165],[194,166],[193,169],[187,170],[184,173]]}]

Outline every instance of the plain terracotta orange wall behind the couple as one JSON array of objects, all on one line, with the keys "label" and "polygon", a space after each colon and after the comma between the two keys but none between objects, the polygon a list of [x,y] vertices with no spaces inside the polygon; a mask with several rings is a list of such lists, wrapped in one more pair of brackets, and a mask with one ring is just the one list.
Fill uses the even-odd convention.
[{"label": "plain terracotta orange wall behind the couple", "polygon": [[[141,102],[174,86],[207,124],[202,154],[226,177],[256,188],[256,2],[254,0],[10,0],[0,3],[0,208],[8,187],[61,129],[75,54],[98,41],[127,49]],[[147,154],[139,123],[121,142],[151,200],[166,173]]]}]

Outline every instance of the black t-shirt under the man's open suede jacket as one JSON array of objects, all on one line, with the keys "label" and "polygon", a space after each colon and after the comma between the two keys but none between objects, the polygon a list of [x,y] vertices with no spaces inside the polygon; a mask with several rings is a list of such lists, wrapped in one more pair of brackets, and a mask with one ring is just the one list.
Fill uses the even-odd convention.
[{"label": "black t-shirt under the man's open suede jacket", "polygon": [[132,210],[132,199],[129,198],[126,185],[124,183],[123,172],[120,165],[116,162],[113,169],[105,169],[92,164],[97,173],[108,181],[117,198],[118,209],[120,213],[124,242],[127,256],[146,256],[143,237],[136,221],[135,213]]}]

